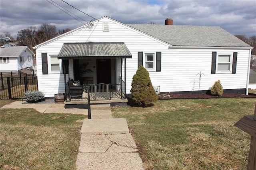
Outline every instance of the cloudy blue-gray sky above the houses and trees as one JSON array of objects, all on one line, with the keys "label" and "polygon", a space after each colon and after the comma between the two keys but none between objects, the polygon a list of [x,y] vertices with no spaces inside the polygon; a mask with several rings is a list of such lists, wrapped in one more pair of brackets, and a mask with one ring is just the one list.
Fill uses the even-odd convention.
[{"label": "cloudy blue-gray sky above the houses and trees", "polygon": [[142,24],[164,24],[172,18],[174,25],[220,26],[233,35],[256,35],[255,0],[0,0],[0,32],[14,37],[21,29],[42,23],[74,29],[103,16]]}]

